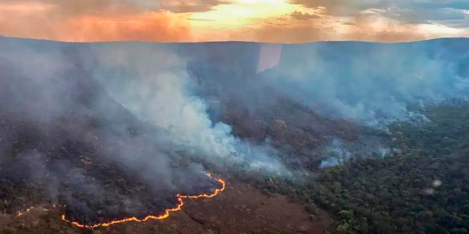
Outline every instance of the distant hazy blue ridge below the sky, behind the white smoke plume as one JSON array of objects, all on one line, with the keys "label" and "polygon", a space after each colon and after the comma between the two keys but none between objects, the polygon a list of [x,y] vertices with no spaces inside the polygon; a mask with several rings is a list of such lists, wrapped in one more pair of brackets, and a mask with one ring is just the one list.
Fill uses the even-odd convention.
[{"label": "distant hazy blue ridge below the sky, behind the white smoke plume", "polygon": [[[139,64],[150,62],[153,67],[151,56],[166,56],[154,62],[154,67],[160,66],[156,69],[176,77],[188,76],[186,91],[205,101],[213,123],[227,123],[240,138],[256,142],[271,139],[279,148],[306,155],[308,161],[311,150],[331,138],[359,139],[362,127],[357,123],[386,126],[399,118],[421,121],[424,116],[413,113],[408,104],[422,106],[465,98],[469,94],[468,42],[465,38],[446,38],[396,44],[350,41],[281,45],[59,43],[0,38],[0,65],[4,67],[3,79],[19,66],[18,70],[30,79],[44,72],[54,74],[56,81],[63,77],[72,82],[64,83],[65,87],[103,89],[106,95],[110,93],[109,99],[132,108],[124,103],[129,98],[124,93],[129,81],[141,72]],[[120,61],[120,67],[109,67],[107,60]],[[163,65],[168,61],[171,67]],[[70,64],[78,64],[80,69],[70,68]],[[259,64],[266,64],[266,69],[259,70]],[[42,72],[28,70],[34,66]],[[47,88],[48,83],[41,85]],[[31,93],[29,90],[36,87],[25,83],[16,86],[16,91]],[[8,90],[3,94],[8,96]],[[84,101],[92,99],[92,95],[83,97]],[[4,96],[4,100],[8,98]],[[94,107],[106,113],[120,109]],[[125,108],[121,112],[112,116],[132,118]],[[315,165],[316,161],[308,163]]]}]

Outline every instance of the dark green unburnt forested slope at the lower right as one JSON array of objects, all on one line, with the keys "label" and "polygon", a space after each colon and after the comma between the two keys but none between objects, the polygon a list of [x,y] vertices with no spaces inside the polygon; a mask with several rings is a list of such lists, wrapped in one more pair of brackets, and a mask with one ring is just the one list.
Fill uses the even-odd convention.
[{"label": "dark green unburnt forested slope at the lower right", "polygon": [[325,169],[314,201],[338,233],[468,233],[469,104],[431,106],[423,128],[395,123],[401,154]]}]

